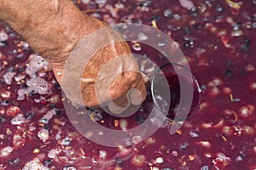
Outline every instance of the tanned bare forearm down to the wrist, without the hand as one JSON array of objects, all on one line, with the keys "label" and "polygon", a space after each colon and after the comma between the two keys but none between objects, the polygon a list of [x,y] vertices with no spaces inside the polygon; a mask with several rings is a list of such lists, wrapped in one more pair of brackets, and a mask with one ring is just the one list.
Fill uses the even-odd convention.
[{"label": "tanned bare forearm down to the wrist, without the hand", "polygon": [[31,47],[52,62],[61,62],[73,47],[103,24],[83,14],[70,0],[1,0],[0,18]]}]

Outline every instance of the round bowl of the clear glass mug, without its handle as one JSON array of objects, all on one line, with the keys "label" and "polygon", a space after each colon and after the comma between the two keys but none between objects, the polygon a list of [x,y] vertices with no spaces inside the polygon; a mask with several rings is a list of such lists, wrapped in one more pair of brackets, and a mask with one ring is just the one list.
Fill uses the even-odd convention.
[{"label": "round bowl of the clear glass mug, without its handle", "polygon": [[[179,75],[177,71],[183,72],[189,71],[189,69],[177,63],[167,63],[165,65],[161,65],[160,68],[154,72],[152,82],[150,83],[150,93],[152,95],[154,105],[156,105],[158,110],[165,114],[167,118],[171,120],[175,119],[177,121],[185,121],[188,116],[198,109],[201,98],[201,88],[196,78],[192,74],[189,76],[187,76],[187,74]],[[169,109],[166,109],[164,106],[166,105],[166,100],[168,99],[164,99],[162,97],[165,96],[165,94],[162,92],[160,84],[162,82],[161,79],[163,78],[166,78],[170,92],[170,96],[166,95],[170,98]],[[177,108],[182,102],[181,90],[183,89],[181,88],[181,83],[183,83],[183,86],[185,87],[192,86],[192,100],[190,101],[190,105],[183,105],[183,108],[181,108],[179,113],[177,113]]]}]

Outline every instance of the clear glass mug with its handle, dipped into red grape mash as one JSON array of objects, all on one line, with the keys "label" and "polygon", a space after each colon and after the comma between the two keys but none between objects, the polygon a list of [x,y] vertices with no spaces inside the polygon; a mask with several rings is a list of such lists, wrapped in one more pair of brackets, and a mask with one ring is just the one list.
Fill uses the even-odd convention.
[{"label": "clear glass mug with its handle, dipped into red grape mash", "polygon": [[[195,76],[190,70],[178,63],[165,63],[160,66],[155,65],[147,58],[138,57],[138,65],[145,77],[148,77],[147,99],[141,108],[149,112],[152,105],[162,112],[169,121],[184,122],[187,117],[198,109],[201,99],[201,88]],[[182,88],[192,86],[192,99],[188,105],[181,105]],[[185,89],[186,90],[186,89]],[[183,92],[183,95],[186,92]],[[183,99],[186,96],[183,96]],[[190,105],[189,105],[190,104]],[[178,107],[183,107],[179,108]],[[177,113],[178,111],[178,113]]]}]

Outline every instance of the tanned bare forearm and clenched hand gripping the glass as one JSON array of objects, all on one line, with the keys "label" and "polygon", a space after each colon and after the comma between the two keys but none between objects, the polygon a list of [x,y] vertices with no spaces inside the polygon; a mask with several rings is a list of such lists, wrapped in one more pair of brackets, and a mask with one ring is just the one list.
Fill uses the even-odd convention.
[{"label": "tanned bare forearm and clenched hand gripping the glass", "polygon": [[[73,104],[82,105],[77,97],[81,94],[85,106],[108,105],[119,113],[125,105],[145,99],[144,80],[127,43],[70,0],[0,0],[0,19],[49,61]],[[67,62],[73,62],[72,68]],[[71,89],[67,80],[81,91]]]}]

